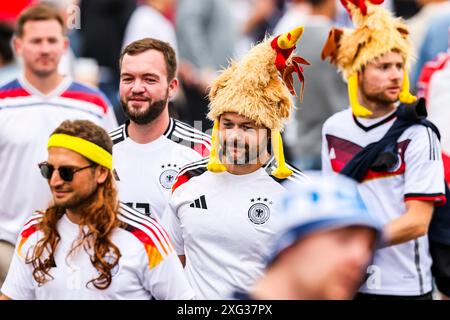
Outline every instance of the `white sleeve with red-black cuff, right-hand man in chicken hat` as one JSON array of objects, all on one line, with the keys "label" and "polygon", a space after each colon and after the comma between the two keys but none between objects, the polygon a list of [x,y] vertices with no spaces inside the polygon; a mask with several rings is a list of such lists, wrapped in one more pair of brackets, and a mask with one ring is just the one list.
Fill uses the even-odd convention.
[{"label": "white sleeve with red-black cuff, right-hand man in chicken hat", "polygon": [[417,125],[411,129],[411,141],[405,152],[405,201],[443,202],[444,167],[439,140],[425,126]]}]

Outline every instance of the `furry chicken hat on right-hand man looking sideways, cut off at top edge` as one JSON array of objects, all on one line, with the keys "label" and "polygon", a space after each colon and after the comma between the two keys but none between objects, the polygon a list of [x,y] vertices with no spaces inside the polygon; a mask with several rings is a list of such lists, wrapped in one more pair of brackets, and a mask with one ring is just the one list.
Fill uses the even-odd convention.
[{"label": "furry chicken hat on right-hand man looking sideways, cut off at top edge", "polygon": [[408,27],[401,18],[394,18],[380,6],[383,0],[341,0],[349,12],[355,29],[330,30],[322,50],[322,59],[330,58],[348,82],[348,95],[353,114],[367,117],[372,114],[358,102],[358,73],[370,61],[393,50],[405,62],[404,77],[399,99],[403,103],[416,101],[409,92],[406,68],[411,58]]}]

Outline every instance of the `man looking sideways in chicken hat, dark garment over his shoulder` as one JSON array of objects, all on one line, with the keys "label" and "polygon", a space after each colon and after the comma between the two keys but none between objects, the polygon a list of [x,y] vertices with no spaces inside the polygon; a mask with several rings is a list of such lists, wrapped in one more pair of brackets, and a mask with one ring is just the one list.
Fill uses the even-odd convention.
[{"label": "man looking sideways in chicken hat, dark garment over his shoulder", "polygon": [[415,107],[406,71],[408,28],[379,5],[344,3],[356,28],[332,30],[323,57],[330,56],[348,80],[351,108],[323,126],[322,168],[349,175],[353,157],[374,150],[370,148],[381,140],[391,143],[382,151],[384,158],[375,154],[378,163],[371,163],[361,179],[349,175],[360,182],[362,199],[384,224],[386,236],[386,247],[375,252],[357,298],[431,299],[427,231],[434,205],[446,198],[440,144],[432,126],[416,119],[404,131],[397,129],[398,121],[405,121],[401,111]]}]

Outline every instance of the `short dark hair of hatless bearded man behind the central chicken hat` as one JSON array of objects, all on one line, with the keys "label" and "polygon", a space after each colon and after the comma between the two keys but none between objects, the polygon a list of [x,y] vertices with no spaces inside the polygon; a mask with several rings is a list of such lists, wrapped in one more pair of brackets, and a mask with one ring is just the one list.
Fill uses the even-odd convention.
[{"label": "short dark hair of hatless bearded man behind the central chicken hat", "polygon": [[119,58],[120,67],[122,67],[122,60],[126,54],[134,56],[147,50],[156,50],[161,52],[166,62],[167,81],[171,81],[175,78],[175,73],[177,71],[177,57],[175,55],[175,51],[169,43],[157,39],[144,38],[134,41],[126,46]]}]

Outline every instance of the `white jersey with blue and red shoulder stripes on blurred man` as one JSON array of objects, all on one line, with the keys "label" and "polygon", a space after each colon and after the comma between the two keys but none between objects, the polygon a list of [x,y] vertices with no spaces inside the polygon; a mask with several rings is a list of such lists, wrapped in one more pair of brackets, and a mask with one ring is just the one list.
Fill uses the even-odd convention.
[{"label": "white jersey with blue and red shoulder stripes on blurred man", "polygon": [[30,212],[48,207],[51,193],[37,165],[47,159],[53,130],[75,119],[117,126],[104,95],[70,78],[47,95],[24,78],[0,87],[0,240],[15,243]]}]

